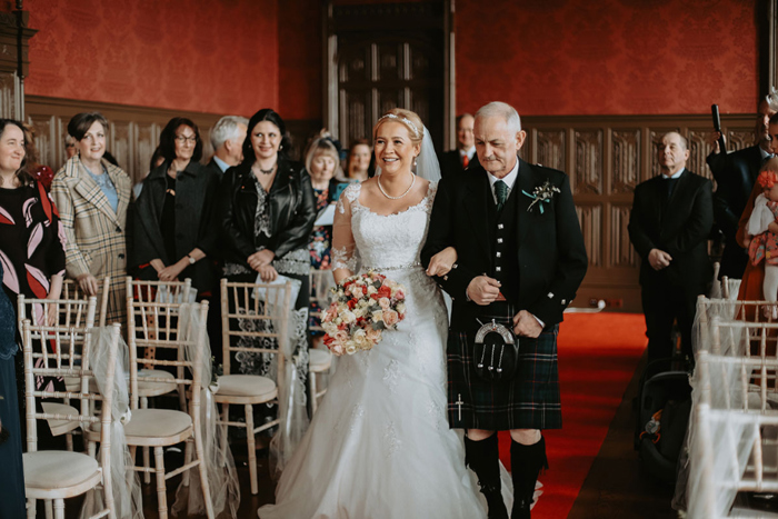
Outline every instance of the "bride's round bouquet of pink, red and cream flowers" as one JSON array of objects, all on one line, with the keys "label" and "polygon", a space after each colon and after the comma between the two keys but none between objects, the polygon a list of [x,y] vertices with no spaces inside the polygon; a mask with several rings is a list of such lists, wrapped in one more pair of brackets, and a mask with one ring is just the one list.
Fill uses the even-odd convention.
[{"label": "bride's round bouquet of pink, red and cream flowers", "polygon": [[397,328],[406,317],[406,288],[372,270],[346,278],[332,291],[332,303],[321,327],[332,355],[372,349],[383,330]]}]

